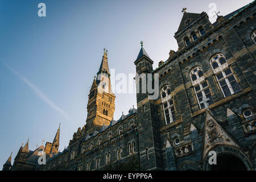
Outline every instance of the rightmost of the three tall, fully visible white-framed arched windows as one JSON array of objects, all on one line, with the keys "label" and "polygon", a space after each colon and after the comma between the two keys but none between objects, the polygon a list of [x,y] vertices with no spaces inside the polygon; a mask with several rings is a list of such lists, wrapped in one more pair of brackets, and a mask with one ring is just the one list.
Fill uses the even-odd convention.
[{"label": "rightmost of the three tall, fully visible white-framed arched windows", "polygon": [[212,59],[210,59],[210,65],[212,65],[213,73],[217,78],[224,97],[228,97],[240,91],[236,77],[222,53],[214,55]]}]

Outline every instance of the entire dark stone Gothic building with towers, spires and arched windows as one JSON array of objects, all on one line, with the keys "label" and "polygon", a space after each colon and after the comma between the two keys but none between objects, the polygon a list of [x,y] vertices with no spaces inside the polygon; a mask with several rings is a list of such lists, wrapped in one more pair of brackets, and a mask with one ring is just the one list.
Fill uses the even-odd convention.
[{"label": "entire dark stone Gothic building with towers, spires and arched windows", "polygon": [[[46,165],[39,165],[28,160],[27,142],[13,166],[9,158],[3,169],[255,170],[255,1],[217,14],[213,24],[205,12],[184,9],[174,37],[178,50],[158,68],[152,68],[143,44],[134,61],[139,75],[159,74],[158,99],[137,93],[138,109],[114,121],[110,79],[101,79],[101,73],[110,76],[104,51],[101,81],[94,78],[88,96],[86,125],[69,146],[57,152],[54,139],[39,147],[36,151],[48,151]],[[143,86],[139,82],[140,90]],[[210,164],[214,154],[217,164]]]}]

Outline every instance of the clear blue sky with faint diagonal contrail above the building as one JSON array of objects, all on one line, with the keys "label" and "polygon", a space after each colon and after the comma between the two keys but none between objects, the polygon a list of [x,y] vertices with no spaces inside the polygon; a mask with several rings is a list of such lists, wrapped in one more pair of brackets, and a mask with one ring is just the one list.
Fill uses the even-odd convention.
[{"label": "clear blue sky with faint diagonal contrail above the building", "polygon": [[[40,2],[46,17],[38,17]],[[43,139],[52,142],[59,123],[60,150],[68,146],[85,125],[89,86],[104,47],[109,68],[134,73],[143,40],[156,68],[170,49],[177,50],[182,8],[208,13],[212,2],[226,15],[252,0],[0,0],[0,166],[11,151],[14,160],[28,137],[30,150]],[[116,97],[114,119],[137,107],[135,94]]]}]

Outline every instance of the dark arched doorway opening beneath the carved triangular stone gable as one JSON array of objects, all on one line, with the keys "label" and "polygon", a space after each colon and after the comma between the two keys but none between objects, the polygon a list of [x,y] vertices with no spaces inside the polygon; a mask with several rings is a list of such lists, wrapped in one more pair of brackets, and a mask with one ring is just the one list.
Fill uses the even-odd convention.
[{"label": "dark arched doorway opening beneath the carved triangular stone gable", "polygon": [[234,155],[217,156],[217,164],[211,165],[210,171],[247,171],[241,159]]}]

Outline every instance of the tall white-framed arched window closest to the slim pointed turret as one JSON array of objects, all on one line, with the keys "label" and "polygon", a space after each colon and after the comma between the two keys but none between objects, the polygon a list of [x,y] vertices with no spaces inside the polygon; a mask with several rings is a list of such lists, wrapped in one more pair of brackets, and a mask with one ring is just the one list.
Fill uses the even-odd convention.
[{"label": "tall white-framed arched window closest to the slim pointed turret", "polygon": [[164,120],[166,125],[175,121],[175,107],[171,96],[171,89],[169,85],[163,86],[161,89],[162,105],[164,111]]}]

